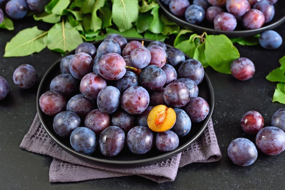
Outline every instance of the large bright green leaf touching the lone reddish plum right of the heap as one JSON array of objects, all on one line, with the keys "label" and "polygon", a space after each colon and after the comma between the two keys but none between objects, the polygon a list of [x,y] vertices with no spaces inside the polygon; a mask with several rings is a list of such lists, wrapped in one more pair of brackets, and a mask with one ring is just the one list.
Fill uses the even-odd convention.
[{"label": "large bright green leaf touching the lone reddish plum right of the heap", "polygon": [[226,35],[206,35],[205,58],[214,70],[231,74],[231,62],[239,58],[239,51]]}]

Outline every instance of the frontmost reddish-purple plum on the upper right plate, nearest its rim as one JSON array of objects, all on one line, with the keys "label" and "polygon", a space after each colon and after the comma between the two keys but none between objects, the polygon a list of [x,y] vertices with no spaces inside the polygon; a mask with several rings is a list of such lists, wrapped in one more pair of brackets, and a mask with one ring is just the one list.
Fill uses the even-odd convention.
[{"label": "frontmost reddish-purple plum on the upper right plate, nearest its rim", "polygon": [[219,13],[214,18],[215,30],[233,31],[237,25],[237,20],[234,15],[230,13]]}]

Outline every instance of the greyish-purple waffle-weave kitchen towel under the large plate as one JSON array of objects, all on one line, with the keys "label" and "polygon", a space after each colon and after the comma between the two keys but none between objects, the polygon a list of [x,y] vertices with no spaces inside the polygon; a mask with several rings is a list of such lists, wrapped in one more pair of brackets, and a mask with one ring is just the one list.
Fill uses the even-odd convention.
[{"label": "greyish-purple waffle-weave kitchen towel under the large plate", "polygon": [[179,167],[193,162],[215,162],[221,158],[220,147],[212,119],[205,132],[182,153],[148,166],[118,168],[85,162],[62,150],[45,132],[38,114],[20,147],[31,152],[53,157],[50,182],[84,181],[108,177],[137,175],[162,183],[174,181]]}]

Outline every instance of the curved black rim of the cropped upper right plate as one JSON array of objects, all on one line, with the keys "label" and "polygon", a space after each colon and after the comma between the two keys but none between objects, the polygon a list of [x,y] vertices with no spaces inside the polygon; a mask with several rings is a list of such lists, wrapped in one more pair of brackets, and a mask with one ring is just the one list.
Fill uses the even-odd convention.
[{"label": "curved black rim of the cropped upper right plate", "polygon": [[[174,21],[176,24],[185,27],[185,25],[187,25],[188,27],[191,28],[197,28],[197,30],[207,30],[213,34],[224,34],[224,35],[252,35],[253,33],[260,33],[263,32],[265,30],[269,30],[269,29],[273,29],[278,27],[279,25],[281,25],[284,21],[285,21],[285,14],[283,17],[281,17],[279,20],[277,20],[276,22],[269,24],[267,26],[261,27],[261,28],[257,28],[257,29],[253,29],[253,30],[234,30],[234,31],[223,31],[223,30],[215,30],[213,28],[206,28],[203,26],[199,26],[199,25],[195,25],[195,24],[191,24],[177,16],[175,16],[173,13],[171,13],[170,11],[168,11],[168,9],[165,8],[165,4],[163,2],[161,2],[161,0],[157,0],[158,5],[160,6],[160,8],[163,10],[163,12],[166,14],[166,16],[170,17],[172,21]],[[195,31],[194,31],[195,32]]]}]

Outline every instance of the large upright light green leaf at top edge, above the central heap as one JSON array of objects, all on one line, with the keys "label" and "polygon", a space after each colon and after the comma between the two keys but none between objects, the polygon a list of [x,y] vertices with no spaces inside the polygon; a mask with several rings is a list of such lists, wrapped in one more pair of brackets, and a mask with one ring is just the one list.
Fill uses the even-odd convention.
[{"label": "large upright light green leaf at top edge, above the central heap", "polygon": [[112,18],[120,32],[130,29],[138,16],[138,0],[113,0]]}]

